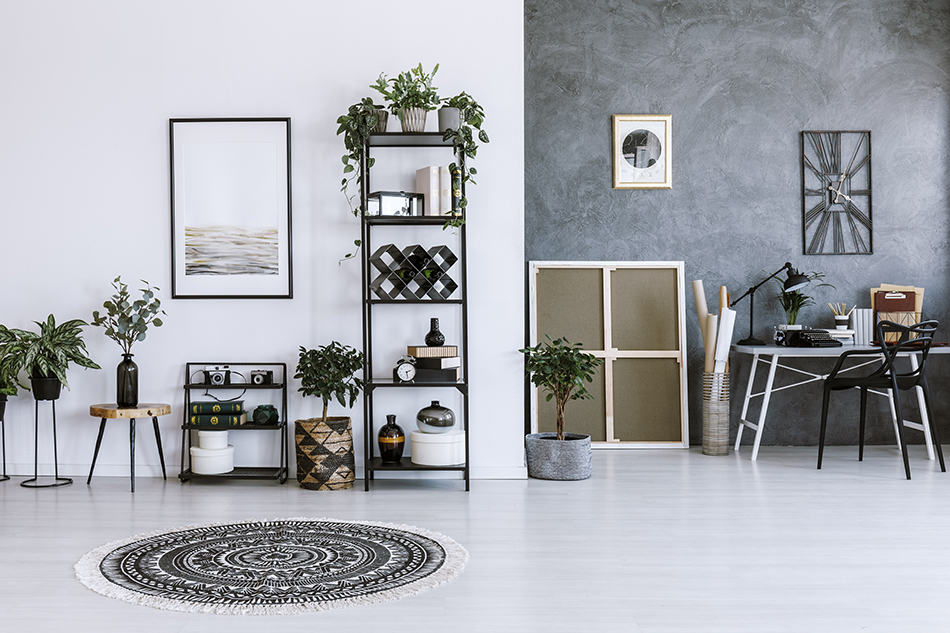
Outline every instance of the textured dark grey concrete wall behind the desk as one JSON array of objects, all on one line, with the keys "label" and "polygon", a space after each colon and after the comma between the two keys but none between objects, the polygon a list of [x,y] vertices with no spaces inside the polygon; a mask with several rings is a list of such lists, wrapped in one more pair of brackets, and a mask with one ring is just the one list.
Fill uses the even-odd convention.
[{"label": "textured dark grey concrete wall behind the desk", "polygon": [[[819,307],[802,312],[818,326],[830,324],[821,307],[828,301],[863,306],[871,285],[914,283],[926,288],[926,316],[946,322],[945,340],[948,71],[945,0],[526,0],[527,258],[685,260],[687,280],[704,279],[710,300],[720,284],[739,293],[791,261],[837,287],[817,290]],[[611,188],[617,113],[673,116],[672,190]],[[802,255],[803,129],[872,131],[873,255]],[[760,335],[783,321],[774,288],[763,291]],[[687,308],[691,438],[699,443],[702,361],[691,296]],[[747,310],[739,308],[740,336]],[[737,365],[734,380],[744,384],[749,364]],[[931,369],[943,391],[950,359]],[[764,442],[816,443],[819,394],[816,385],[777,394]],[[950,396],[937,400],[950,438]],[[836,401],[829,441],[855,443],[857,394]],[[891,441],[885,405],[871,409],[870,439]]]}]

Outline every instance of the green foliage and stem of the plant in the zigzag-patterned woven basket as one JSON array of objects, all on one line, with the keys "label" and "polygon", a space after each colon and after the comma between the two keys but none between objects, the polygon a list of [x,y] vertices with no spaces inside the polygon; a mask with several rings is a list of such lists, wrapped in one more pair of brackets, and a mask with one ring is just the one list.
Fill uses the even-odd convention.
[{"label": "green foliage and stem of the plant in the zigzag-patterned woven basket", "polygon": [[[323,400],[323,418],[327,420],[327,406],[336,400],[350,408],[363,390],[363,380],[354,374],[363,368],[363,352],[349,345],[332,341],[317,349],[300,347],[300,359],[294,378],[300,381],[297,390],[305,396],[319,396]],[[347,405],[349,402],[349,405]]]}]

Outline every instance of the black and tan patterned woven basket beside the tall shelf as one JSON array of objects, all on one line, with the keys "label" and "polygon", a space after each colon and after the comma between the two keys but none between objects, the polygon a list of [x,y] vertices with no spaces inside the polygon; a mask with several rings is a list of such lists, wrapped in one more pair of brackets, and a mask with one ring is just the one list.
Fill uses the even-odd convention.
[{"label": "black and tan patterned woven basket beside the tall shelf", "polygon": [[308,490],[340,490],[353,485],[353,428],[349,418],[297,420],[297,483]]}]

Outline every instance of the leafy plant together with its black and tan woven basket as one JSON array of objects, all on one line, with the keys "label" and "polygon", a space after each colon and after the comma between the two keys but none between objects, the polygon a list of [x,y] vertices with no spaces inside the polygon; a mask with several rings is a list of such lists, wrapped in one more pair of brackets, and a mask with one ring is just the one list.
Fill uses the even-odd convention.
[{"label": "leafy plant together with its black and tan woven basket", "polygon": [[327,417],[330,402],[352,408],[363,390],[356,372],[363,369],[363,353],[333,341],[317,349],[300,348],[297,372],[298,389],[304,396],[323,401],[319,418],[297,420],[294,439],[297,445],[297,483],[309,490],[349,488],[356,477],[353,457],[353,428],[348,416]]}]

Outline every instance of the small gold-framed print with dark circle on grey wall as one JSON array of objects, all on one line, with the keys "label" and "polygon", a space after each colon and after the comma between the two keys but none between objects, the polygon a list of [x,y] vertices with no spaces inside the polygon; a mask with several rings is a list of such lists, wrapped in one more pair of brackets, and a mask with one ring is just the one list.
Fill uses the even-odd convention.
[{"label": "small gold-framed print with dark circle on grey wall", "polygon": [[614,115],[614,189],[672,188],[672,118]]}]

